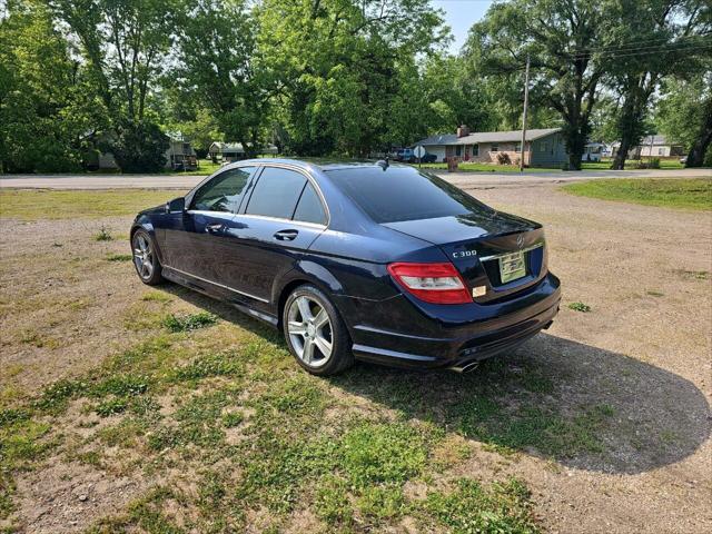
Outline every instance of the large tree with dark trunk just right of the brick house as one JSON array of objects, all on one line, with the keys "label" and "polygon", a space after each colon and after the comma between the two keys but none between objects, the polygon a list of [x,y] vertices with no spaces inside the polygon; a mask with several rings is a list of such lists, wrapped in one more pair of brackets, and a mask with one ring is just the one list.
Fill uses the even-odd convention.
[{"label": "large tree with dark trunk just right of the brick house", "polygon": [[476,23],[467,47],[492,75],[516,76],[532,61],[532,102],[563,120],[568,166],[581,168],[591,116],[605,72],[600,50],[610,46],[609,1],[513,0],[493,4]]}]

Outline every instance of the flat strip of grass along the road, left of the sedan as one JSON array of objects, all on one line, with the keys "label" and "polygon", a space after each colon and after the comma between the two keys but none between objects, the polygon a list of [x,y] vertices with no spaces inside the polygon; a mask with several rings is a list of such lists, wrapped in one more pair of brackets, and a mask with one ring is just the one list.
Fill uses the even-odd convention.
[{"label": "flat strip of grass along the road, left of the sedan", "polygon": [[152,189],[2,189],[0,218],[40,220],[134,215],[141,209],[165,204],[181,194],[182,191]]}]

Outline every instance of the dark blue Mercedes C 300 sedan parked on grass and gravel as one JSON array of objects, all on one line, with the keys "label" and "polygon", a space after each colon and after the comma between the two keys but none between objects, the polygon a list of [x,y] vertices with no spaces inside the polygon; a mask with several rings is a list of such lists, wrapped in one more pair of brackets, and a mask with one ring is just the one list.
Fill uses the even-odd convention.
[{"label": "dark blue Mercedes C 300 sedan parked on grass and gravel", "polygon": [[136,270],[280,328],[299,365],[469,370],[547,328],[542,226],[379,162],[240,161],[140,212]]}]

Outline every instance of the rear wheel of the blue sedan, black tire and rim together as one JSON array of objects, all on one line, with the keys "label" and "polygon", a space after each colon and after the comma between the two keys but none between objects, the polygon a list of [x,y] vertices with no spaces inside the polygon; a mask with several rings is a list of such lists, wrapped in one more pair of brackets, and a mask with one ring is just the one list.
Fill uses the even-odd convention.
[{"label": "rear wheel of the blue sedan, black tire and rim together", "polygon": [[308,373],[330,376],[354,365],[346,325],[316,286],[307,284],[291,291],[283,309],[281,325],[289,352]]}]

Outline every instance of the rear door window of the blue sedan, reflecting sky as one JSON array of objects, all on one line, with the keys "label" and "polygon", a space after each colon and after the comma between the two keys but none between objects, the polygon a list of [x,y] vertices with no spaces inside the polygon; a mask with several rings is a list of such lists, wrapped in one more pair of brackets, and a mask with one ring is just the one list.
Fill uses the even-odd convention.
[{"label": "rear door window of the blue sedan, reflecting sky", "polygon": [[301,172],[265,167],[247,204],[246,214],[291,219],[299,195],[307,182]]}]

